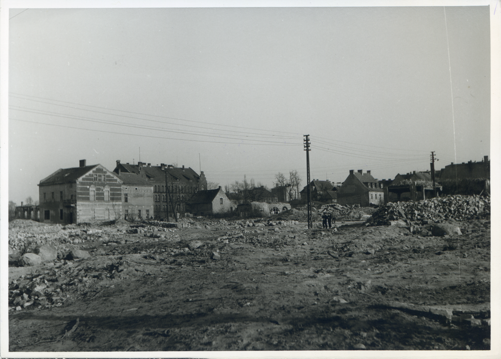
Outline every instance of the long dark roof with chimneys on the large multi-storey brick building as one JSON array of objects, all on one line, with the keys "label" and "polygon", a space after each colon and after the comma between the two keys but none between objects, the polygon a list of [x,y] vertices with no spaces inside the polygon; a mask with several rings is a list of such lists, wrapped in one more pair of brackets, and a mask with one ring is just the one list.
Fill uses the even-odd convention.
[{"label": "long dark roof with chimneys on the large multi-storey brick building", "polygon": [[[121,173],[135,173],[135,174],[141,174],[141,176],[144,174],[147,178],[150,178],[151,180],[158,182],[158,181],[165,181],[165,170],[167,170],[167,173],[171,177],[169,180],[175,180],[175,181],[180,181],[180,182],[197,182],[200,180],[200,176],[193,170],[191,167],[169,167],[165,166],[165,170],[162,169],[162,166],[148,166],[148,165],[143,165],[139,167],[137,164],[128,164],[128,163],[120,163],[120,174]],[[113,170],[114,172],[118,173],[118,166],[115,167]]]}]

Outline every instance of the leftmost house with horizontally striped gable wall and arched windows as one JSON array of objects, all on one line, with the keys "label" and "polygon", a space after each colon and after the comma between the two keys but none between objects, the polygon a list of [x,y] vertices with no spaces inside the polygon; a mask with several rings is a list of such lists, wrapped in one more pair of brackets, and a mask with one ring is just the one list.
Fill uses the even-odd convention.
[{"label": "leftmost house with horizontally striped gable wall and arched windows", "polygon": [[120,218],[122,180],[101,164],[60,168],[39,183],[40,222],[83,223]]}]

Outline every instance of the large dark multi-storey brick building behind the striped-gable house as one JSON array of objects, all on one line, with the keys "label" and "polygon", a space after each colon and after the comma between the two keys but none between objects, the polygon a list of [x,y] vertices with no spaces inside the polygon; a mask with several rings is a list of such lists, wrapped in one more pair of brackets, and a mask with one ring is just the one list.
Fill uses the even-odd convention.
[{"label": "large dark multi-storey brick building behind the striped-gable house", "polygon": [[121,163],[113,172],[117,174],[135,173],[153,185],[153,212],[155,218],[172,218],[174,213],[186,210],[186,201],[196,192],[207,189],[207,181],[203,171],[198,175],[193,169],[174,167],[161,163],[152,166],[151,163],[137,164]]}]

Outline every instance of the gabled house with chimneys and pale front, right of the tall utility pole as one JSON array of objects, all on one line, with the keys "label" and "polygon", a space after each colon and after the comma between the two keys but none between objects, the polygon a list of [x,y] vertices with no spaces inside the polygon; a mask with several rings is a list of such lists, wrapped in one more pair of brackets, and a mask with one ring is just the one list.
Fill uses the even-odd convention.
[{"label": "gabled house with chimneys and pale front, right of the tall utility pole", "polygon": [[370,170],[363,173],[362,169],[358,172],[350,169],[350,174],[337,191],[338,204],[343,206],[358,204],[362,207],[381,205],[384,203],[382,187],[382,184],[371,175]]}]

